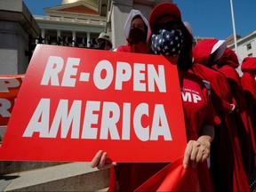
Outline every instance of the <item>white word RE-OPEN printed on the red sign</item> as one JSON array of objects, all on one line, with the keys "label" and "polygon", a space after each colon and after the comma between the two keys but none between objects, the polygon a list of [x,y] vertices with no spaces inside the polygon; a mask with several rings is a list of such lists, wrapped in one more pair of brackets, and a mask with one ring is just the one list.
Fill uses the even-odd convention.
[{"label": "white word RE-OPEN printed on the red sign", "polygon": [[[61,57],[50,56],[41,84],[75,87],[77,80],[81,82],[89,81],[91,74],[77,74],[77,68],[80,65],[79,58],[68,58],[67,64],[64,64],[64,60]],[[146,66],[148,76],[145,76]],[[64,75],[60,79],[60,72],[62,70],[64,70]],[[102,77],[102,73],[105,73],[106,76]],[[114,80],[115,73],[116,79]],[[135,92],[156,92],[155,84],[159,92],[166,92],[163,65],[158,65],[156,70],[156,67],[152,64],[133,63],[132,71],[132,66],[129,63],[117,61],[116,71],[114,71],[110,61],[100,60],[95,66],[92,76],[94,85],[100,90],[108,89],[113,81],[115,81],[115,90],[122,90],[123,83],[130,81],[133,77],[133,91]],[[145,83],[146,80],[148,84]]]}]

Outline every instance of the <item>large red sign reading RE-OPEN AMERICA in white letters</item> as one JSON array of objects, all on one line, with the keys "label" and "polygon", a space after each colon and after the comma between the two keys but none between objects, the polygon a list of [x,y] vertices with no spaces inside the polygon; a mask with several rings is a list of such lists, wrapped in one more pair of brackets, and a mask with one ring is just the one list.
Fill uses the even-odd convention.
[{"label": "large red sign reading RE-OPEN AMERICA in white letters", "polygon": [[170,162],[187,143],[178,79],[162,56],[37,45],[0,159]]}]

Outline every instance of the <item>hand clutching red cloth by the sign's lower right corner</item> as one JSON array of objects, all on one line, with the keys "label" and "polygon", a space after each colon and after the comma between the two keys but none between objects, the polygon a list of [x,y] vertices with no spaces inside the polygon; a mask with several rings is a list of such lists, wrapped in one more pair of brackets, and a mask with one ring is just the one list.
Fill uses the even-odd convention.
[{"label": "hand clutching red cloth by the sign's lower right corner", "polygon": [[195,168],[198,163],[204,162],[210,156],[210,146],[207,140],[189,140],[183,159],[184,168]]}]

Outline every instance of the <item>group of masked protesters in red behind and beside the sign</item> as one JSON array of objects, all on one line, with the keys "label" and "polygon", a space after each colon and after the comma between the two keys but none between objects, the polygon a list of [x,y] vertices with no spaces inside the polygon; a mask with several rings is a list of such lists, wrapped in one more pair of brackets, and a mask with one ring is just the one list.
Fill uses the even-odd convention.
[{"label": "group of masked protesters in red behind and beside the sign", "polygon": [[[193,41],[193,30],[172,3],[157,4],[147,20],[132,10],[124,24],[127,44],[116,52],[163,55],[176,62],[181,94],[198,93],[197,103],[183,100],[188,144],[184,169],[196,169],[200,191],[251,191],[255,177],[256,58],[239,61],[226,41]],[[109,38],[108,38],[109,40]],[[172,82],[170,82],[172,84]],[[170,163],[107,163],[99,151],[91,166],[110,168],[109,191],[134,191]],[[171,163],[172,164],[172,163]]]}]

